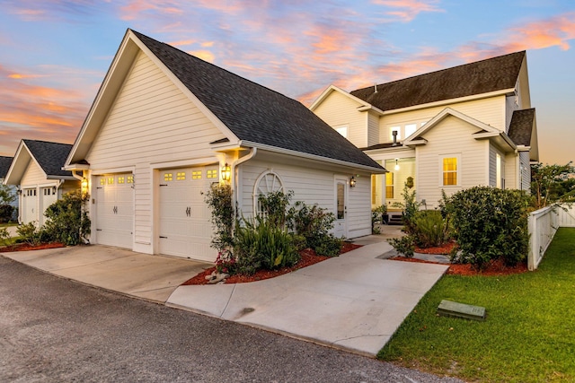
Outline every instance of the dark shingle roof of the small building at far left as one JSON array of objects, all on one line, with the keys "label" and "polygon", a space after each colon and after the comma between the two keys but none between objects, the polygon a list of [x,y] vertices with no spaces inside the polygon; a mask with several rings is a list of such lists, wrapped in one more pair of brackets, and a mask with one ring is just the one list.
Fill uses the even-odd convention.
[{"label": "dark shingle roof of the small building at far left", "polygon": [[72,150],[70,144],[49,143],[46,141],[22,140],[38,161],[47,176],[72,177],[72,172],[62,170],[66,158]]}]

